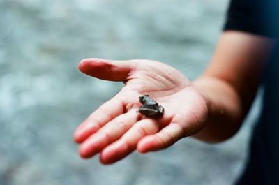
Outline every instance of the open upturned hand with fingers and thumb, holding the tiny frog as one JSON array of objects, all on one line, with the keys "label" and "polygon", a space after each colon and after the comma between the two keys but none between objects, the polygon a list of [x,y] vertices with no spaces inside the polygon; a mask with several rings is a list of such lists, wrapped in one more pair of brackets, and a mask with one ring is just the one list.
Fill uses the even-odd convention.
[{"label": "open upturned hand with fingers and thumb, holding the tiny frog", "polygon": [[[75,131],[82,158],[100,153],[102,163],[114,163],[135,149],[141,153],[165,149],[204,126],[208,114],[204,97],[171,66],[146,60],[84,59],[79,68],[87,75],[126,84]],[[144,94],[165,108],[163,117],[151,119],[137,112]]]}]

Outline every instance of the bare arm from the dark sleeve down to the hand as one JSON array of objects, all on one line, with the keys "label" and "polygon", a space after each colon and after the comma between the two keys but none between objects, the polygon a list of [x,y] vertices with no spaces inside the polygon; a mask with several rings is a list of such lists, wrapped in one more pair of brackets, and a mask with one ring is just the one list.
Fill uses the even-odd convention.
[{"label": "bare arm from the dark sleeve down to the hand", "polygon": [[217,142],[236,133],[255,98],[273,45],[262,36],[223,33],[209,68],[193,82],[209,105],[209,119],[195,138]]}]

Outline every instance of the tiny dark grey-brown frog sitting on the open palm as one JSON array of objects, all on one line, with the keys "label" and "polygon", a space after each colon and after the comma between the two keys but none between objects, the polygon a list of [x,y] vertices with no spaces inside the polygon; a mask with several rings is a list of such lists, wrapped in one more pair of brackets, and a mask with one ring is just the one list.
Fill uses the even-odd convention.
[{"label": "tiny dark grey-brown frog sitting on the open palm", "polygon": [[140,103],[142,103],[142,106],[140,106],[139,112],[146,117],[160,118],[163,116],[164,108],[158,105],[149,95],[140,96]]}]

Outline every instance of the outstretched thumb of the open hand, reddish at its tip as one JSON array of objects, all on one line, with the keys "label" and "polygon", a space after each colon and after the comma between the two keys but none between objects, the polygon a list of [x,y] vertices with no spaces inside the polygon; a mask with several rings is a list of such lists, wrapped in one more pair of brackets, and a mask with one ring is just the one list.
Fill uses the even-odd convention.
[{"label": "outstretched thumb of the open hand, reddish at its tip", "polygon": [[106,59],[83,59],[78,68],[82,73],[102,80],[125,81],[135,66],[133,61],[110,61]]}]

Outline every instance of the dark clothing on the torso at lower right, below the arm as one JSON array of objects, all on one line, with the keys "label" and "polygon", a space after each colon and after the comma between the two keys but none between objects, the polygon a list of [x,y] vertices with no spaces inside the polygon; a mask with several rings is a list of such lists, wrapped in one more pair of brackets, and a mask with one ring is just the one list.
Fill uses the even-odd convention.
[{"label": "dark clothing on the torso at lower right, below the arm", "polygon": [[[279,51],[277,50],[278,54]],[[279,58],[266,72],[262,114],[250,143],[250,158],[239,185],[279,184]]]}]

